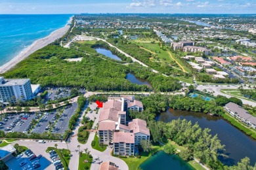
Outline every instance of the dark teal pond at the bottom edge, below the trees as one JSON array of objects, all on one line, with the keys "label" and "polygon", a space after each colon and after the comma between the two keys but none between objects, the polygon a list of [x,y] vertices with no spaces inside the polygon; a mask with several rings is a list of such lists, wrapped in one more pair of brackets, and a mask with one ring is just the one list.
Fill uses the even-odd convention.
[{"label": "dark teal pond at the bottom edge, below the trees", "polygon": [[161,170],[169,170],[169,169],[175,169],[175,170],[190,170],[194,169],[191,167],[188,163],[183,161],[179,156],[177,155],[171,155],[171,154],[165,154],[163,150],[160,152],[156,152],[153,156],[148,158],[148,160],[144,161],[140,165],[141,169],[144,170],[155,170],[155,169],[161,169]]}]

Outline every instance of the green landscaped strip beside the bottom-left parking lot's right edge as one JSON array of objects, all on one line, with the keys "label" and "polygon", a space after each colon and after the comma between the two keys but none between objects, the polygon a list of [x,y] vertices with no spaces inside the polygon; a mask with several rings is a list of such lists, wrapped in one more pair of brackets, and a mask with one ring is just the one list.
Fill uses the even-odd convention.
[{"label": "green landscaped strip beside the bottom-left parking lot's right edge", "polygon": [[68,164],[70,163],[70,150],[67,149],[58,149],[54,147],[49,147],[45,152],[49,152],[50,150],[55,150],[58,154],[58,157],[62,161],[62,164],[64,166],[64,169],[68,169]]}]

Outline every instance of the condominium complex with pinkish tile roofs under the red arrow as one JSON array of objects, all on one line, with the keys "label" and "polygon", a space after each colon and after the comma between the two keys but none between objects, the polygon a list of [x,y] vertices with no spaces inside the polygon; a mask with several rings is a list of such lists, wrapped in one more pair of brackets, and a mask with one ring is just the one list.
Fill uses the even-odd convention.
[{"label": "condominium complex with pinkish tile roofs under the red arrow", "polygon": [[150,140],[150,130],[146,127],[146,121],[140,119],[133,119],[127,126],[124,110],[142,111],[143,105],[133,97],[124,96],[119,99],[112,97],[100,111],[99,143],[114,144],[114,154],[134,155],[134,147],[140,145],[141,140]]}]

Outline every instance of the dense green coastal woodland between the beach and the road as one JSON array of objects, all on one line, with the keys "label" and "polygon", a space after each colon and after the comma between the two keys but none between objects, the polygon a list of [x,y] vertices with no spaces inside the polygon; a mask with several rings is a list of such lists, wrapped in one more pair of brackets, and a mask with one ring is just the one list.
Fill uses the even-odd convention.
[{"label": "dense green coastal woodland between the beach and the road", "polygon": [[[79,62],[70,62],[64,60],[67,58],[83,59]],[[131,69],[133,65],[137,68],[136,71]],[[171,92],[181,89],[177,79],[152,73],[135,63],[127,66],[54,44],[37,50],[2,76],[30,78],[32,84],[41,86],[86,88],[89,91],[149,91],[148,86],[132,84],[125,79],[130,71],[135,71],[135,76],[146,76],[154,91]]]}]

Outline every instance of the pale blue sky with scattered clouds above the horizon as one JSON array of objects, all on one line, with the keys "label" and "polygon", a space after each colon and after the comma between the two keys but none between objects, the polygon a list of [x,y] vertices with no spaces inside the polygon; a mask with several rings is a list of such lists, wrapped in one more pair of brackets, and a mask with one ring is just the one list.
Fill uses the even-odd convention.
[{"label": "pale blue sky with scattered clouds above the horizon", "polygon": [[0,14],[256,14],[256,0],[0,0]]}]

